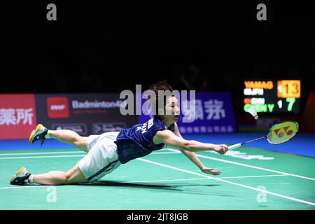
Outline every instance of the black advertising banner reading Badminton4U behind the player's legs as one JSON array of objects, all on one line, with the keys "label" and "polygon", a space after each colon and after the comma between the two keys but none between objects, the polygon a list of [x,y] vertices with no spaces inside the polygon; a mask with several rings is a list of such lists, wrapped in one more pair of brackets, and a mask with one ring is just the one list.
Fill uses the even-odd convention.
[{"label": "black advertising banner reading Badminton4U behind the player's legs", "polygon": [[82,136],[116,132],[138,122],[123,116],[123,100],[113,94],[36,94],[38,123],[52,130],[73,130]]}]

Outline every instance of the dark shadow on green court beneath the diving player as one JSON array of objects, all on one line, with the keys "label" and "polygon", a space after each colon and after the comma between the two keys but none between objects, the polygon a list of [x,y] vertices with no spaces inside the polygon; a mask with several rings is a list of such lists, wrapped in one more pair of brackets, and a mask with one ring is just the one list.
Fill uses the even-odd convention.
[{"label": "dark shadow on green court beneath the diving player", "polygon": [[228,196],[235,197],[235,195],[228,195],[226,193],[210,193],[209,191],[200,191],[200,190],[187,190],[187,189],[179,189],[181,187],[193,187],[193,186],[203,186],[203,187],[214,187],[221,186],[220,184],[169,184],[169,185],[161,185],[161,184],[148,184],[148,183],[124,183],[118,181],[95,181],[93,183],[80,183],[83,186],[105,186],[105,187],[126,187],[126,188],[150,188],[156,190],[175,190],[181,191],[183,193],[188,194],[199,194],[199,195],[220,195],[220,196]]}]

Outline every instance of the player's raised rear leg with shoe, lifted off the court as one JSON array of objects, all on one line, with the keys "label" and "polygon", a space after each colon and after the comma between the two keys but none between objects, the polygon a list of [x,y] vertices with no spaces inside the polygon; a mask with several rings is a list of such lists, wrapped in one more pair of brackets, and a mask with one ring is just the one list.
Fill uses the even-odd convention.
[{"label": "player's raised rear leg with shoe, lifted off the court", "polygon": [[36,129],[29,136],[29,144],[41,140],[41,144],[45,139],[57,139],[66,144],[71,144],[80,148],[87,153],[87,137],[81,137],[78,133],[71,130],[48,130],[41,124],[36,126]]}]

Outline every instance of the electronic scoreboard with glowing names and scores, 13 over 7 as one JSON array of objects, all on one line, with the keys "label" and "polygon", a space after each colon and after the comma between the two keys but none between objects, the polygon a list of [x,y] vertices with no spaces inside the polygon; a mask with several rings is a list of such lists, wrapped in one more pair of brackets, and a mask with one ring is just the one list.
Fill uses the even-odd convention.
[{"label": "electronic scoreboard with glowing names and scores, 13 over 7", "polygon": [[299,113],[300,80],[244,81],[244,111],[252,106],[258,113]]}]

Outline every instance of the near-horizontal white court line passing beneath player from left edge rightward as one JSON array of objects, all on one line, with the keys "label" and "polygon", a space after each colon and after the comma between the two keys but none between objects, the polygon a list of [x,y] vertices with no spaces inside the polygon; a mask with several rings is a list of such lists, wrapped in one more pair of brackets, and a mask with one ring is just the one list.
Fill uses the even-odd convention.
[{"label": "near-horizontal white court line passing beneath player from left edge rightward", "polygon": [[[226,177],[221,177],[218,179],[239,179],[239,178],[256,178],[256,177],[265,177],[265,176],[286,176],[283,174],[279,175],[262,175],[262,176],[226,176]],[[209,180],[208,178],[192,178],[192,179],[171,179],[171,180],[151,180],[151,181],[124,181],[124,182],[119,182],[119,183],[149,183],[149,182],[169,182],[169,181],[198,181],[198,180]],[[18,187],[3,187],[0,189],[13,189],[13,188],[38,188],[38,187],[48,187],[48,186],[41,186],[41,185],[36,185],[36,186],[18,186]]]}]

